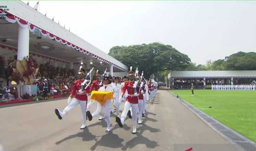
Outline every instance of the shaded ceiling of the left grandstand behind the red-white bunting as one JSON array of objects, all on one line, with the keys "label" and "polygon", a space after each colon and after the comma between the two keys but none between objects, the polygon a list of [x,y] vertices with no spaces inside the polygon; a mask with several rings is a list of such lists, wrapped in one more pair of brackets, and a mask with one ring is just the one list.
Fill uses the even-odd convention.
[{"label": "shaded ceiling of the left grandstand behind the red-white bunting", "polygon": [[[19,25],[17,23],[9,23],[5,19],[0,19],[0,26],[0,43],[17,48]],[[37,37],[41,37],[41,39],[37,39]],[[6,42],[2,42],[3,39],[6,39]],[[49,49],[43,49],[42,46],[46,46],[46,48],[49,47]],[[99,70],[104,70],[106,67],[110,66],[110,64],[105,62],[100,64],[100,60],[92,57],[91,54],[84,54],[76,49],[68,47],[67,45],[63,45],[61,42],[52,40],[48,36],[42,36],[38,29],[35,29],[34,32],[29,32],[29,50],[30,52],[55,57],[68,62],[80,63],[82,61],[85,64],[93,62],[92,65],[97,67]],[[113,71],[119,72],[122,70],[113,67]]]}]

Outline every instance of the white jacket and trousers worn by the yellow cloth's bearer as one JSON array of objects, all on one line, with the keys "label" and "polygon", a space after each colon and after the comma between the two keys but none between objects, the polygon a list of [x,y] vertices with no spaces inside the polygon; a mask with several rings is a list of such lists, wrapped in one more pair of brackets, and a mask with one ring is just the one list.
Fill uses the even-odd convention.
[{"label": "white jacket and trousers worn by the yellow cloth's bearer", "polygon": [[[102,87],[100,87],[99,91],[113,91],[113,87],[111,87],[110,85],[107,85],[106,88],[105,88],[105,86],[102,86]],[[103,116],[105,117],[105,120],[107,122],[107,130],[106,131],[110,131],[110,124],[111,124],[110,112],[112,109],[112,99],[107,100],[103,106],[101,106],[100,103],[98,103],[97,109],[92,113],[92,117],[99,116],[102,107],[103,107]]]}]

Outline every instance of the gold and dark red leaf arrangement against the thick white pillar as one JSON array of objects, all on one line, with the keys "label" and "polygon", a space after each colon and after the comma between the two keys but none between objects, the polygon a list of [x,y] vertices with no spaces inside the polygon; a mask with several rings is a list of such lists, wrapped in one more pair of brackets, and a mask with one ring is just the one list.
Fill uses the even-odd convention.
[{"label": "gold and dark red leaf arrangement against the thick white pillar", "polygon": [[22,61],[17,60],[16,69],[13,68],[13,72],[20,74],[25,85],[31,85],[35,81],[38,69],[36,60],[24,57]]}]

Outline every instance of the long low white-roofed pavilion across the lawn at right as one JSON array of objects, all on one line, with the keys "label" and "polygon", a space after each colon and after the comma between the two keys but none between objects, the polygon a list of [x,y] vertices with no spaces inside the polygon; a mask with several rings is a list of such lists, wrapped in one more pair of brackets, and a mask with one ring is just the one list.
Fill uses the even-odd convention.
[{"label": "long low white-roofed pavilion across the lawn at right", "polygon": [[251,84],[255,82],[256,71],[172,71],[165,79],[167,87],[188,89],[191,83],[195,88],[205,89],[211,84]]}]

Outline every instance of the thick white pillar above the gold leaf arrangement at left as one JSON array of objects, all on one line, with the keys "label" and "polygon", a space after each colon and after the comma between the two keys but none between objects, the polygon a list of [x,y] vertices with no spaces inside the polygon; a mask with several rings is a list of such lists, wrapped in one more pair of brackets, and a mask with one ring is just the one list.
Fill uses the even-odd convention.
[{"label": "thick white pillar above the gold leaf arrangement at left", "polygon": [[17,59],[29,56],[29,29],[19,26]]}]

